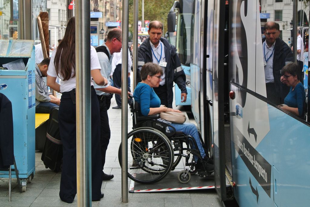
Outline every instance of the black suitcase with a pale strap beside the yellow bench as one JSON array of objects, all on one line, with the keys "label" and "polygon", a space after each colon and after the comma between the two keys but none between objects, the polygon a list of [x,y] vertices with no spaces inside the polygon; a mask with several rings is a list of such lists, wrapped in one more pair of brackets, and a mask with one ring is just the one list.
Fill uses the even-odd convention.
[{"label": "black suitcase with a pale strap beside the yellow bench", "polygon": [[61,170],[63,156],[62,142],[60,139],[58,125],[58,109],[59,107],[57,106],[51,108],[46,141],[41,157],[45,167],[53,170],[56,173]]}]

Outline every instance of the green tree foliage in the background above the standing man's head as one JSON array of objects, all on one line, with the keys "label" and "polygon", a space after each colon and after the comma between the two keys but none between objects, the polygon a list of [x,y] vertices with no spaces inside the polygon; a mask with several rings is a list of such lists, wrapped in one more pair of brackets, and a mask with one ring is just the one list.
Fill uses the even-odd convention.
[{"label": "green tree foliage in the background above the standing man's head", "polygon": [[[175,0],[144,0],[144,20],[158,20],[164,25],[164,34],[167,31],[167,16]],[[142,0],[138,0],[138,20],[142,20]],[[133,0],[129,0],[129,31],[133,31]]]}]

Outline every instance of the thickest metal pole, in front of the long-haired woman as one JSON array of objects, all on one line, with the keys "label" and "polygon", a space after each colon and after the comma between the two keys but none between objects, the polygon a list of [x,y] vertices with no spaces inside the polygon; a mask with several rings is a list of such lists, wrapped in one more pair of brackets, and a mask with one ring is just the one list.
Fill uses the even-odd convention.
[{"label": "thickest metal pole, in front of the long-haired woman", "polygon": [[84,207],[91,206],[90,4],[81,0],[75,6],[77,202]]}]

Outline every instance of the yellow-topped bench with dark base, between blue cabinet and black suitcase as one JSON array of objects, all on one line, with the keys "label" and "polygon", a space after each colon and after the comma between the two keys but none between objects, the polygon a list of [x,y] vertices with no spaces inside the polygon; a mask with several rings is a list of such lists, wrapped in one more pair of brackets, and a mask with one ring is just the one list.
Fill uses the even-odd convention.
[{"label": "yellow-topped bench with dark base, between blue cabinet and black suitcase", "polygon": [[35,149],[36,150],[43,150],[44,148],[49,117],[50,117],[50,114],[36,113],[36,119],[35,119],[35,129],[36,129]]}]

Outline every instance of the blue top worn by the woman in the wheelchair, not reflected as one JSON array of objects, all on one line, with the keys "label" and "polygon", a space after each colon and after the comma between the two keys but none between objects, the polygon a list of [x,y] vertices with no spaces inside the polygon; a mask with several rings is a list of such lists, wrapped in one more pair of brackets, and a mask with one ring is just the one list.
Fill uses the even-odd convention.
[{"label": "blue top worn by the woman in the wheelchair, not reflected", "polygon": [[154,89],[146,83],[138,83],[134,92],[135,101],[140,104],[141,114],[148,116],[150,108],[160,107],[160,99]]}]

